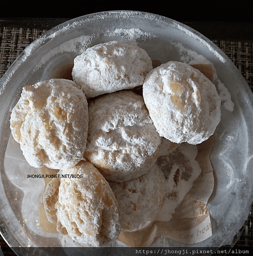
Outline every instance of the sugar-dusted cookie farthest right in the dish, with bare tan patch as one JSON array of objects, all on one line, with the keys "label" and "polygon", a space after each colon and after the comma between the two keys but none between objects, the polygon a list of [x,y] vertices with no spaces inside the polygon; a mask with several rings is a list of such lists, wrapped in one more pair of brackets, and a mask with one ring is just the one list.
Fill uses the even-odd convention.
[{"label": "sugar-dusted cookie farthest right in the dish, with bare tan patch", "polygon": [[183,62],[167,62],[149,72],[143,98],[157,132],[175,143],[205,141],[221,118],[215,85]]}]

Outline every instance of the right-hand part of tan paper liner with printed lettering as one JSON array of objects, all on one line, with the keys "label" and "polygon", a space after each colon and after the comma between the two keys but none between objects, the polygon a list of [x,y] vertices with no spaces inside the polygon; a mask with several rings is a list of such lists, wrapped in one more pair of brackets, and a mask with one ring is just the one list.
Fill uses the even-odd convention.
[{"label": "right-hand part of tan paper liner with printed lettering", "polygon": [[201,167],[201,174],[193,183],[191,190],[175,209],[170,221],[155,221],[149,227],[135,231],[122,231],[118,240],[127,246],[150,246],[154,238],[166,236],[183,244],[195,244],[212,235],[211,221],[207,201],[214,188],[213,168],[210,153],[214,136],[197,145],[196,160]]}]

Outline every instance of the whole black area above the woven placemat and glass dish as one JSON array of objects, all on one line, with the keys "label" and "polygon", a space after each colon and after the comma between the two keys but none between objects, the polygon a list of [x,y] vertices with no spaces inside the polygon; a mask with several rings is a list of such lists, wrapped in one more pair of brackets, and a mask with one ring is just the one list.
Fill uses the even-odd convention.
[{"label": "whole black area above the woven placemat and glass dish", "polygon": [[[250,3],[250,4],[249,4]],[[67,19],[111,11],[134,10],[162,15],[191,26],[209,39],[253,41],[251,2],[242,1],[1,1],[0,26],[20,22],[49,29]],[[25,18],[25,19],[23,19]],[[36,20],[34,19],[36,18]],[[51,18],[54,18],[52,22]],[[41,21],[42,20],[42,21]]]}]

